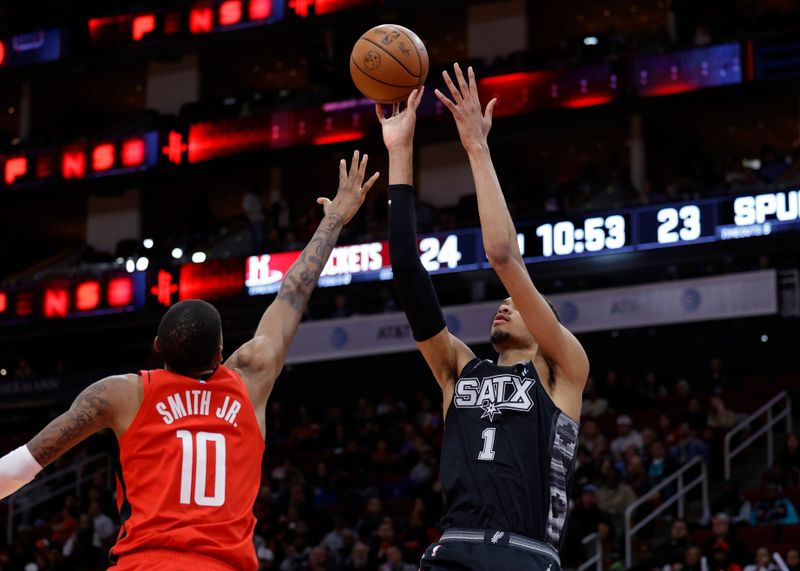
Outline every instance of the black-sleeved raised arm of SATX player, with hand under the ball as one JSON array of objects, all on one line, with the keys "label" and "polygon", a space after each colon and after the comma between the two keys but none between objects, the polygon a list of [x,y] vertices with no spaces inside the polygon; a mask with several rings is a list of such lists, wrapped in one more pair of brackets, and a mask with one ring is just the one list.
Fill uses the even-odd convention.
[{"label": "black-sleeved raised arm of SATX player, with hand under the ball", "polygon": [[389,151],[389,252],[394,283],[417,347],[445,392],[446,411],[453,382],[474,355],[447,329],[439,300],[417,249],[413,139],[416,111],[423,90],[415,90],[409,95],[402,112],[399,105],[395,105],[388,119],[380,105],[376,105],[376,112]]}]

